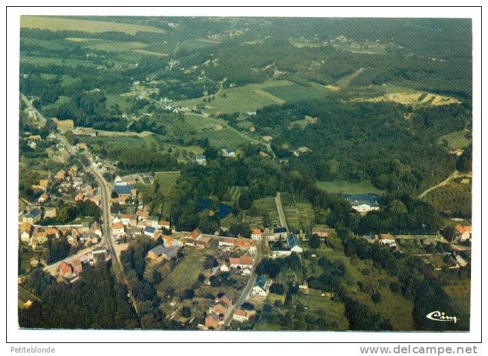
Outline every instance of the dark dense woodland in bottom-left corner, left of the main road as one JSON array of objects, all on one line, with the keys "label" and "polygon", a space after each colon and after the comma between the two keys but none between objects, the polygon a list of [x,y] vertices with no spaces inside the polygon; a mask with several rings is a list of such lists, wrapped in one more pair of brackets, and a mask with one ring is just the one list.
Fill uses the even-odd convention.
[{"label": "dark dense woodland in bottom-left corner, left of the main road", "polygon": [[110,264],[85,266],[75,284],[56,283],[40,269],[34,270],[25,288],[41,301],[18,309],[18,325],[42,329],[136,329],[137,314],[127,299],[127,289],[115,281]]}]

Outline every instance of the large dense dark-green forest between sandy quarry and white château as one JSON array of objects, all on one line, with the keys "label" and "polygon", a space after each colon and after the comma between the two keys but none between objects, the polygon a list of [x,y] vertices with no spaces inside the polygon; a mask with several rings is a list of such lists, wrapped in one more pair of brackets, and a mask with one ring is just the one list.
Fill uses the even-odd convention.
[{"label": "large dense dark-green forest between sandy quarry and white ch\u00e2teau", "polygon": [[[409,114],[413,119],[405,120]],[[290,127],[305,115],[318,122],[304,129]],[[470,108],[462,105],[413,111],[394,103],[333,98],[264,107],[251,120],[257,131],[274,137],[277,156],[310,179],[369,179],[382,190],[418,192],[454,170],[454,156],[437,139],[469,125],[471,117]],[[311,152],[295,157],[292,151],[304,145]]]}]

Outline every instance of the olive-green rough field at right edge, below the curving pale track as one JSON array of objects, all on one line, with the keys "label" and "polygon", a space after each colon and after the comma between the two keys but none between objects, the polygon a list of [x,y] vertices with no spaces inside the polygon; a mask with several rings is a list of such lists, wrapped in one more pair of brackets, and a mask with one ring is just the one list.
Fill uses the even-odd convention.
[{"label": "olive-green rough field at right edge, below the curving pale track", "polygon": [[461,213],[463,215],[471,215],[472,209],[472,186],[471,180],[466,178],[455,179],[450,181],[445,186],[441,186],[432,190],[424,200],[434,205],[439,212],[450,212],[452,214]]}]

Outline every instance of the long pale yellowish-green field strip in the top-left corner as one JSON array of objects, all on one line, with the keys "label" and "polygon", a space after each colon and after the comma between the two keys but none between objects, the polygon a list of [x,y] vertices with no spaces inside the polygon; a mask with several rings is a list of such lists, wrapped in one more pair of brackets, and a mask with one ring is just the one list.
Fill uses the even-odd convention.
[{"label": "long pale yellowish-green field strip in the top-left corner", "polygon": [[133,25],[130,23],[116,23],[109,21],[84,20],[81,18],[62,18],[57,16],[21,16],[21,28],[49,29],[50,31],[85,31],[97,32],[124,32],[136,34],[139,31],[164,33],[164,29],[153,26]]}]

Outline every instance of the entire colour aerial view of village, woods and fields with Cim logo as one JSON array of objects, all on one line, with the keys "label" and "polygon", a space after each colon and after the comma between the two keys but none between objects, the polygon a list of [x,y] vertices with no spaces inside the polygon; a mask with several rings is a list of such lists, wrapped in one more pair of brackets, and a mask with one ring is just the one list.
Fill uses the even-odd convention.
[{"label": "entire colour aerial view of village, woods and fields with Cim logo", "polygon": [[470,18],[18,21],[19,328],[470,331]]}]

